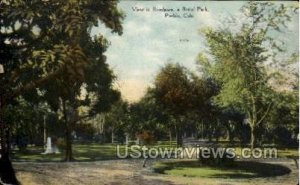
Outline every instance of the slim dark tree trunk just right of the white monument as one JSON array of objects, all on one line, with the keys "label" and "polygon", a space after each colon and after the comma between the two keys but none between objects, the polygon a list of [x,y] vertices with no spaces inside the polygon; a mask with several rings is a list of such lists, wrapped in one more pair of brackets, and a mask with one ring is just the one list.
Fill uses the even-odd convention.
[{"label": "slim dark tree trunk just right of the white monument", "polygon": [[66,110],[66,101],[63,100],[63,114],[65,121],[65,141],[66,141],[66,151],[65,151],[65,161],[73,161],[73,152],[72,152],[72,136],[71,136],[71,123],[70,119],[67,117]]}]

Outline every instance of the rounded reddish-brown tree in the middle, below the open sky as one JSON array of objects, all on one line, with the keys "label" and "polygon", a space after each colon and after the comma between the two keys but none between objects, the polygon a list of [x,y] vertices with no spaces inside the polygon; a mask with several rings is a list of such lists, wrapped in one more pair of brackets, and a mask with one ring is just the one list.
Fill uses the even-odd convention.
[{"label": "rounded reddish-brown tree in the middle, below the open sky", "polygon": [[176,130],[177,143],[182,145],[182,132],[189,117],[201,115],[202,119],[212,110],[211,97],[217,88],[210,79],[197,77],[179,64],[167,64],[155,78],[155,102],[165,110]]}]

